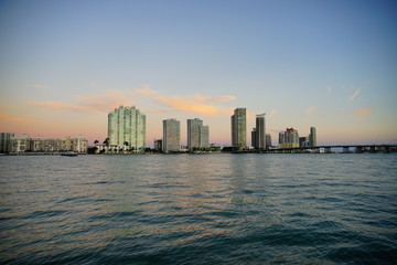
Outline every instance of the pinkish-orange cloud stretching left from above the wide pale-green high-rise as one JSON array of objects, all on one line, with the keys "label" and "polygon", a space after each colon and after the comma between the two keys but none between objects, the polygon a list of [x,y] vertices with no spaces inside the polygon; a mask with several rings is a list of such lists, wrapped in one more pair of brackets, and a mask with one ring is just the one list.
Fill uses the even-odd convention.
[{"label": "pinkish-orange cloud stretching left from above the wide pale-green high-rise", "polygon": [[78,103],[63,103],[63,102],[35,102],[29,103],[34,106],[58,109],[58,110],[79,110],[88,113],[107,113],[120,105],[130,105],[131,99],[126,96],[122,91],[111,89],[106,94],[93,95],[93,96],[76,96],[79,99]]}]

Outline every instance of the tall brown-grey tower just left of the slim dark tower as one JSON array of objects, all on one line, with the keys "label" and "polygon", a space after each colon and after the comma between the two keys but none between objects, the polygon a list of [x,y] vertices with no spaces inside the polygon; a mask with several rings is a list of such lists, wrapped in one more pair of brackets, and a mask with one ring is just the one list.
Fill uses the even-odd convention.
[{"label": "tall brown-grey tower just left of the slim dark tower", "polygon": [[232,115],[232,146],[245,148],[247,146],[247,110],[236,108]]}]

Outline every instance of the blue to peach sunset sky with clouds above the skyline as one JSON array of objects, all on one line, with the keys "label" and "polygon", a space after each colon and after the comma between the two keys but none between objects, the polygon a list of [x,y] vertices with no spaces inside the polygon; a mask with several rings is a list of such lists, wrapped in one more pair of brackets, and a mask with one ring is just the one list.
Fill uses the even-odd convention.
[{"label": "blue to peach sunset sky with clouds above the skyline", "polygon": [[386,0],[0,0],[0,131],[107,137],[120,105],[210,126],[266,113],[318,144],[397,144],[397,2]]}]

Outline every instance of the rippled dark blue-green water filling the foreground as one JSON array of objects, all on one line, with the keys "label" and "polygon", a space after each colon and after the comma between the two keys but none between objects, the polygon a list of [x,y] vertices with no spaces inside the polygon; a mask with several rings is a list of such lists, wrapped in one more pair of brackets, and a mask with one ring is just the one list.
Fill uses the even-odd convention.
[{"label": "rippled dark blue-green water filling the foreground", "polygon": [[0,264],[394,264],[397,153],[0,157]]}]

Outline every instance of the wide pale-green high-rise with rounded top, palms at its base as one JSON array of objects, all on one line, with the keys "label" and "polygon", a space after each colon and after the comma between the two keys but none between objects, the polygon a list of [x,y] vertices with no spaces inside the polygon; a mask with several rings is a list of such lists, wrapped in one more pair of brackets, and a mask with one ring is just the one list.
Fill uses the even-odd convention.
[{"label": "wide pale-green high-rise with rounded top, palms at its base", "polygon": [[146,115],[135,106],[115,108],[108,114],[108,138],[117,149],[144,150]]}]

